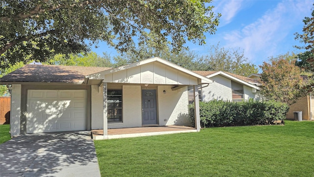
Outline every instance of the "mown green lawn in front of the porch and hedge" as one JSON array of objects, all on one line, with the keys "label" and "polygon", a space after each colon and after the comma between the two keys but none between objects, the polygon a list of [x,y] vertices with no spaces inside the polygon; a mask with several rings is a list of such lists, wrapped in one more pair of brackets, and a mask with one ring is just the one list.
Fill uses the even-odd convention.
[{"label": "mown green lawn in front of the porch and hedge", "polygon": [[314,121],[95,141],[103,177],[314,177]]}]

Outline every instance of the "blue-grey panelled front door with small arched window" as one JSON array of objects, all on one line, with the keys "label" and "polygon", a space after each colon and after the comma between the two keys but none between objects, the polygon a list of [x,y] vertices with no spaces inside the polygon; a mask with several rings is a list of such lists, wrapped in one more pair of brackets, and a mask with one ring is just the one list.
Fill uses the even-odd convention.
[{"label": "blue-grey panelled front door with small arched window", "polygon": [[143,125],[157,124],[157,109],[156,109],[156,90],[142,90],[142,119]]}]

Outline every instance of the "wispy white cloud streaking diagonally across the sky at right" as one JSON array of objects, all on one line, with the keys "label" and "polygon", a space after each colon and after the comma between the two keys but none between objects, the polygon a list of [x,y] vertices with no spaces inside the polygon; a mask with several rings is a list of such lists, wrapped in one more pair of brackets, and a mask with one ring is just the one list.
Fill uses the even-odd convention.
[{"label": "wispy white cloud streaking diagonally across the sky at right", "polygon": [[259,55],[266,58],[277,56],[283,45],[281,42],[288,35],[294,38],[293,33],[296,31],[292,30],[295,24],[299,25],[305,16],[311,15],[312,5],[313,2],[310,0],[281,1],[254,23],[239,30],[225,32],[223,37],[225,43],[228,47],[243,49],[249,59],[256,60],[261,57]]}]

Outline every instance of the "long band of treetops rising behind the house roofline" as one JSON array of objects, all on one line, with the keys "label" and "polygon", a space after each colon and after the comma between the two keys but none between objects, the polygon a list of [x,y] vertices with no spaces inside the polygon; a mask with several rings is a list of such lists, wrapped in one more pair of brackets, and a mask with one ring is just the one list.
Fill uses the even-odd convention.
[{"label": "long band of treetops rising behind the house roofline", "polygon": [[199,57],[193,51],[186,49],[181,50],[179,53],[172,53],[169,47],[156,50],[147,45],[141,45],[137,47],[136,50],[129,50],[114,57],[110,57],[106,53],[104,53],[104,57],[100,57],[96,53],[89,53],[85,55],[70,55],[68,59],[65,55],[56,55],[46,63],[119,67],[152,57],[160,57],[189,70],[226,71],[241,76],[248,76],[258,72],[257,66],[250,63],[247,58],[244,57],[243,52],[220,48],[219,44],[212,46],[212,49],[214,50],[212,50],[212,53],[209,55]]}]

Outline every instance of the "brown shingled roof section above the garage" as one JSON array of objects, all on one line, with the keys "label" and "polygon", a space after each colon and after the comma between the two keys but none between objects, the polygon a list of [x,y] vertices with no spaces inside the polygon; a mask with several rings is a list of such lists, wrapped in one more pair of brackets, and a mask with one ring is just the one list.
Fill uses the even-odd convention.
[{"label": "brown shingled roof section above the garage", "polygon": [[86,75],[107,69],[111,68],[26,64],[22,68],[0,78],[0,82],[82,83]]}]

